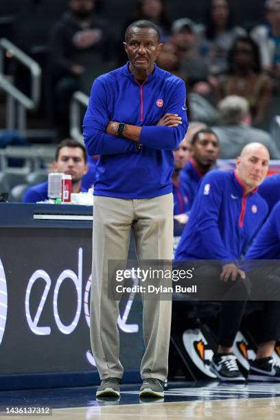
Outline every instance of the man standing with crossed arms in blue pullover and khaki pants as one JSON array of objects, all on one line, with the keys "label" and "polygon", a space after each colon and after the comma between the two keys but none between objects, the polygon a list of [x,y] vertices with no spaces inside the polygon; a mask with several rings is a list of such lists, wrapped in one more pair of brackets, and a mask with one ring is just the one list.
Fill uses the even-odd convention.
[{"label": "man standing with crossed arms in blue pullover and khaki pants", "polygon": [[[108,298],[108,260],[126,260],[133,229],[139,259],[172,259],[173,150],[187,131],[185,84],[154,64],[162,44],[149,21],[128,26],[129,62],[93,83],[84,142],[98,154],[94,189],[91,347],[98,397],[119,397],[118,302]],[[171,301],[143,295],[145,354],[140,395],[163,397]]]}]

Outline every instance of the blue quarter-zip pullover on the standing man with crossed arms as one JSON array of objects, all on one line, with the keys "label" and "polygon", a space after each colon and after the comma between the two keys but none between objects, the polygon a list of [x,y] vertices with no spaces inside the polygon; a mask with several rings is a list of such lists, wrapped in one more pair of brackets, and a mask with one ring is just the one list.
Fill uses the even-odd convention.
[{"label": "blue quarter-zip pullover on the standing man with crossed arms", "polygon": [[[101,75],[93,83],[84,117],[87,152],[97,154],[95,196],[152,198],[172,192],[176,149],[187,132],[185,82],[154,65],[139,84],[129,63]],[[183,124],[156,126],[165,113],[176,113]],[[142,126],[137,143],[106,134],[109,121]]]}]

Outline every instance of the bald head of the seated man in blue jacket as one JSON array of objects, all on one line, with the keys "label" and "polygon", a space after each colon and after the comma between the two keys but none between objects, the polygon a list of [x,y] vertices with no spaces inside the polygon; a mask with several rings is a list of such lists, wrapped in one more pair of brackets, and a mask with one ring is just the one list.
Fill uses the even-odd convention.
[{"label": "bald head of the seated man in blue jacket", "polygon": [[246,194],[263,182],[268,173],[269,153],[261,143],[248,143],[236,159],[237,175],[245,186]]}]

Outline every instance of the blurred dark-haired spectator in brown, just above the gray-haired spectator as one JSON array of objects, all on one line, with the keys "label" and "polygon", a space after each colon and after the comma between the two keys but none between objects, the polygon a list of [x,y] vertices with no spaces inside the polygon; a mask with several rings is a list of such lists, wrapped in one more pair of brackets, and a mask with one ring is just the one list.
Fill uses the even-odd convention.
[{"label": "blurred dark-haired spectator in brown, just above the gray-haired spectator", "polygon": [[229,53],[229,73],[218,78],[216,93],[219,100],[228,95],[245,97],[253,123],[264,121],[271,100],[272,82],[261,73],[259,47],[250,37],[235,40]]}]

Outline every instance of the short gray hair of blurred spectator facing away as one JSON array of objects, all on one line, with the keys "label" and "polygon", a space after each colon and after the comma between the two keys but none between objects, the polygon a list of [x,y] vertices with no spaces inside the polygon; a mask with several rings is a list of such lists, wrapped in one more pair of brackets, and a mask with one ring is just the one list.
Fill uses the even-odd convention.
[{"label": "short gray hair of blurred spectator facing away", "polygon": [[249,112],[248,101],[241,96],[229,95],[218,103],[218,120],[222,126],[240,124]]}]

